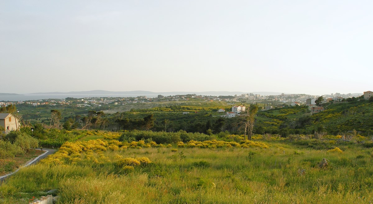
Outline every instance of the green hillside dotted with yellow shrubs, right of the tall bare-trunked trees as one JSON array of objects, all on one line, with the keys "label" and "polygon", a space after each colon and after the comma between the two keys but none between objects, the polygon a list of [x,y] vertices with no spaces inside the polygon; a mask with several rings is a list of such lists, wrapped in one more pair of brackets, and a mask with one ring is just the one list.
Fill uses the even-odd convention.
[{"label": "green hillside dotted with yellow shrubs, right of the tall bare-trunked trees", "polygon": [[373,103],[361,100],[323,104],[325,111],[312,114],[307,107],[285,107],[258,113],[257,133],[345,134],[356,130],[372,135]]}]

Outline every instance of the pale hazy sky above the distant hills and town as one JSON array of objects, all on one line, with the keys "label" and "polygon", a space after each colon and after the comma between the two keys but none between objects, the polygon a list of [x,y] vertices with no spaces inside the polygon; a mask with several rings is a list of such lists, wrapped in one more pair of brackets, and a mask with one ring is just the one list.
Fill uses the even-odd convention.
[{"label": "pale hazy sky above the distant hills and town", "polygon": [[0,92],[373,91],[372,10],[372,0],[1,0]]}]

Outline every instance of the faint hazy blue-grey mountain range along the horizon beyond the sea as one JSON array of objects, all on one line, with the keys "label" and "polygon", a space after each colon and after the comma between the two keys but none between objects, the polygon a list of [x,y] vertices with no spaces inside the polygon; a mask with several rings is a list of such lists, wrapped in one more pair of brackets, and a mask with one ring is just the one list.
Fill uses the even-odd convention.
[{"label": "faint hazy blue-grey mountain range along the horizon beyond the sea", "polygon": [[185,94],[197,94],[197,95],[241,95],[241,94],[259,94],[259,95],[279,95],[280,92],[239,92],[239,91],[203,91],[203,92],[193,92],[193,91],[172,91],[172,92],[152,92],[152,91],[104,91],[104,90],[93,90],[93,91],[70,91],[70,92],[38,92],[25,95],[84,95],[84,94],[105,94],[105,95],[119,95],[119,94],[131,94],[131,95],[185,95]]}]

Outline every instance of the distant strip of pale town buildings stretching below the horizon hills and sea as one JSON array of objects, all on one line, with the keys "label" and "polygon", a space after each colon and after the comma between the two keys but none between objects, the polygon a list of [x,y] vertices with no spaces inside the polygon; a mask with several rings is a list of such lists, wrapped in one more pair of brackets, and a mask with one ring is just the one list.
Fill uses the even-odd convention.
[{"label": "distant strip of pale town buildings stretching below the horizon hills and sea", "polygon": [[[372,91],[366,91],[363,93],[364,98],[369,98]],[[330,95],[322,95],[323,103],[329,101],[342,102],[348,98],[360,97],[361,95],[353,94],[340,94],[332,93]],[[227,95],[227,96],[211,96],[211,95],[197,95],[197,94],[185,94],[185,95],[173,95],[163,96],[158,95],[157,97],[148,98],[146,95],[138,97],[85,97],[85,98],[73,98],[67,97],[65,99],[43,99],[43,100],[28,100],[28,101],[0,101],[0,107],[4,107],[10,104],[18,105],[23,104],[29,106],[65,106],[72,105],[76,107],[101,107],[101,106],[123,106],[126,104],[133,103],[151,103],[151,102],[162,102],[162,101],[225,101],[228,104],[239,104],[239,103],[262,103],[264,104],[263,109],[269,110],[278,106],[301,106],[301,105],[315,105],[315,101],[319,98],[319,95],[307,95],[307,94],[280,94],[280,95],[259,95],[259,94],[241,94],[241,95]],[[316,108],[317,109],[317,108]],[[310,106],[312,110],[312,106]],[[313,110],[318,112],[321,110]],[[232,110],[232,112],[234,112]]]}]

